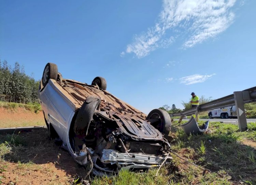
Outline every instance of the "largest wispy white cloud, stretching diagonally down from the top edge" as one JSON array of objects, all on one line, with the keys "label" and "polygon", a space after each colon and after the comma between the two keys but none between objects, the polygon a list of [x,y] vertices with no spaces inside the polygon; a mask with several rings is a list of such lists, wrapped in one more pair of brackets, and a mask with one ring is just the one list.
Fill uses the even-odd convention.
[{"label": "largest wispy white cloud, stretching diagonally down from the top edge", "polygon": [[[134,41],[127,45],[126,53],[134,53],[142,58],[157,48],[168,47],[180,35],[187,35],[183,48],[193,47],[216,37],[232,24],[235,16],[231,8],[235,2],[236,0],[163,0],[158,23],[147,32],[135,35]],[[176,35],[165,39],[168,30]],[[181,33],[180,30],[184,31]]]}]

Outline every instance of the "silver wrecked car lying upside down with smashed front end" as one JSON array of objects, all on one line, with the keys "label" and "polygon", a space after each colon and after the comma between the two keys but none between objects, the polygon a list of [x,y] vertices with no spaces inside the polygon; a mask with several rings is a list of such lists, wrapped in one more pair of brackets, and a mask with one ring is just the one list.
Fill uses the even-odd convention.
[{"label": "silver wrecked car lying upside down with smashed front end", "polygon": [[148,115],[106,91],[96,77],[91,85],[63,79],[47,63],[39,86],[39,101],[52,138],[85,166],[87,174],[112,175],[120,169],[148,169],[171,162],[169,114]]}]

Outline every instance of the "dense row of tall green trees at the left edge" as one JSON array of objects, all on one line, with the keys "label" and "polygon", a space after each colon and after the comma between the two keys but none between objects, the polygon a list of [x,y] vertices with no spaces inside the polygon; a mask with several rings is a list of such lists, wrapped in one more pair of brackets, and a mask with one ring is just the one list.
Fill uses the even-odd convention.
[{"label": "dense row of tall green trees at the left edge", "polygon": [[12,68],[0,60],[0,100],[28,103],[38,102],[39,81],[25,73],[24,66],[15,62]]}]

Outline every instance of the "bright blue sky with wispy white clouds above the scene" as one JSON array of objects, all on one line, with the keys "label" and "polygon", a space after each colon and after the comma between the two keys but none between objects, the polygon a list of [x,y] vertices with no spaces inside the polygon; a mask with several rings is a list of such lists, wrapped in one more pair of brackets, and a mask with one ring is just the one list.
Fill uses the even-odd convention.
[{"label": "bright blue sky with wispy white clouds above the scene", "polygon": [[46,63],[66,79],[107,90],[148,114],[183,109],[191,92],[221,98],[256,86],[256,1],[0,0],[0,57],[40,80]]}]

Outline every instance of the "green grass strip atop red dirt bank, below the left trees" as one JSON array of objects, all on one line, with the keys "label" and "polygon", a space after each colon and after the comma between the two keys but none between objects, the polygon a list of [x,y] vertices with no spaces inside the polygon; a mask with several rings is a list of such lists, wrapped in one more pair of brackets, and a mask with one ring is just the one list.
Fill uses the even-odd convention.
[{"label": "green grass strip atop red dirt bank, below the left trees", "polygon": [[11,109],[11,110],[16,110],[17,108],[24,108],[34,113],[38,113],[39,111],[42,110],[41,105],[39,103],[22,104],[22,103],[0,101],[0,107],[3,107],[5,109]]}]

